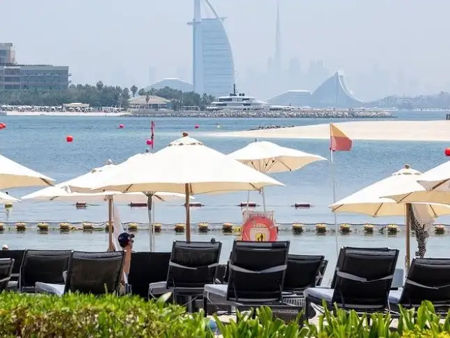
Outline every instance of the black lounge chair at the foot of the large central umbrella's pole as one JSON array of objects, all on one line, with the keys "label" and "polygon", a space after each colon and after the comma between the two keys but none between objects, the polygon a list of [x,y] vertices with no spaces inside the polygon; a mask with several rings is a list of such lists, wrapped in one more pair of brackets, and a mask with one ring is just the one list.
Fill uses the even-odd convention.
[{"label": "black lounge chair at the foot of the large central umbrella's pole", "polygon": [[192,296],[202,295],[204,285],[216,281],[221,248],[220,242],[175,241],[166,281],[150,284],[149,298],[171,291],[175,301],[187,296],[191,307]]}]

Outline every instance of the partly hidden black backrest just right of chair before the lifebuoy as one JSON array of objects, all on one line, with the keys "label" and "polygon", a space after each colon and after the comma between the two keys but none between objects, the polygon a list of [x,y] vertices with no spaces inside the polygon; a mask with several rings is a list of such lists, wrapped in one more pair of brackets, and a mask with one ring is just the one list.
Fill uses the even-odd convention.
[{"label": "partly hidden black backrest just right of chair before the lifebuoy", "polygon": [[283,291],[301,292],[315,287],[324,256],[288,255]]}]

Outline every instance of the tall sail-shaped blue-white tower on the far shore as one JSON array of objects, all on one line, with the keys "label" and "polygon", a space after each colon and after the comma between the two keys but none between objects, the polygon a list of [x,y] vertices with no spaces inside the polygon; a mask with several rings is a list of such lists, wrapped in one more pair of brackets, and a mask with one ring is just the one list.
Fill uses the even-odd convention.
[{"label": "tall sail-shaped blue-white tower on the far shore", "polygon": [[[212,17],[202,17],[202,4]],[[194,0],[193,86],[200,95],[216,97],[233,91],[234,62],[232,48],[219,17],[209,0]]]}]

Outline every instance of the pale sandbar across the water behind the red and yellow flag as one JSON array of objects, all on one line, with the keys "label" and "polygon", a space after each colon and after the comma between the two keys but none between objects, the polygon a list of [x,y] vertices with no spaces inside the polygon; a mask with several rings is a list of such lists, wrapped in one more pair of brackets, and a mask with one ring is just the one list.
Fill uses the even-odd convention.
[{"label": "pale sandbar across the water behind the red and yellow flag", "polygon": [[[399,140],[399,141],[450,141],[450,120],[438,121],[355,121],[335,123],[353,140]],[[330,138],[330,124],[314,124],[301,127],[259,129],[215,133],[212,136],[241,138]]]}]

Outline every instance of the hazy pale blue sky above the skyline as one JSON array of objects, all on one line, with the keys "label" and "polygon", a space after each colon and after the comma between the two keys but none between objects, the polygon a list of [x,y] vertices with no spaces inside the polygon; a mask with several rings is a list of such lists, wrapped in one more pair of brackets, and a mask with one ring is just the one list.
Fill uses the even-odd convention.
[{"label": "hazy pale blue sky above the skyline", "polygon": [[[227,17],[237,81],[251,92],[275,52],[276,0],[210,1]],[[367,99],[450,91],[450,1],[280,3],[284,68],[321,60]],[[15,44],[18,63],[69,65],[73,83],[191,80],[192,0],[3,0],[1,13],[0,42]]]}]

